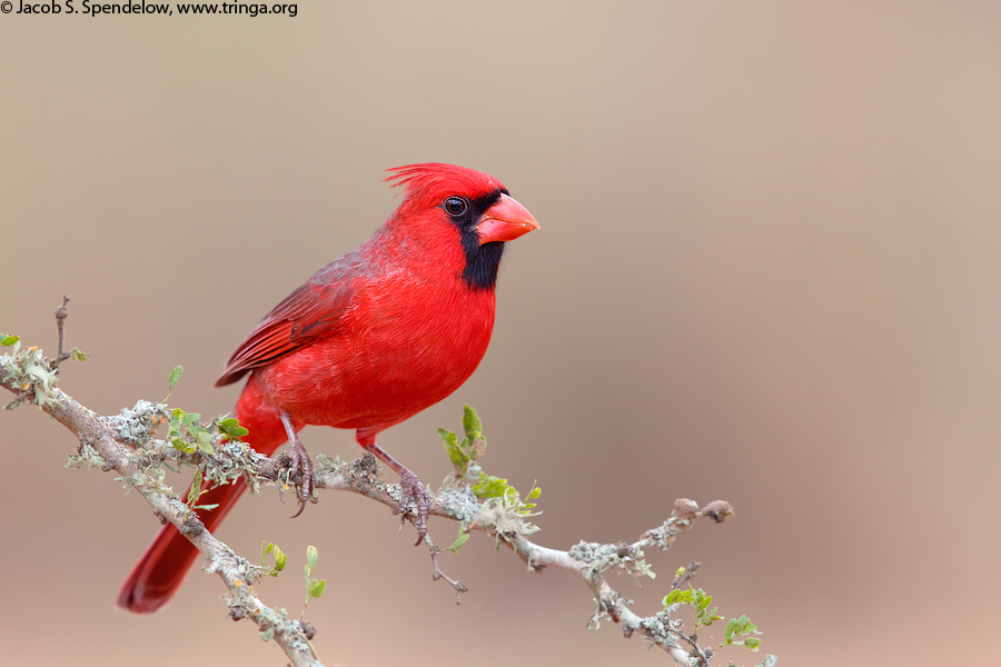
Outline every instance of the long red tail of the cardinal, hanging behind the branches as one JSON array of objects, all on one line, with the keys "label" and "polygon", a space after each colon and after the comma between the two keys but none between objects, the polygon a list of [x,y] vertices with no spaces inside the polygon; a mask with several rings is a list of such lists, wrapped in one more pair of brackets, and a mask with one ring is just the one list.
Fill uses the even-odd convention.
[{"label": "long red tail of the cardinal, hanging behind the branches", "polygon": [[[245,441],[260,454],[270,455],[286,440],[277,412],[261,400],[254,378],[240,395],[236,412],[240,425],[250,429]],[[212,530],[246,489],[244,480],[238,479],[204,494],[198,499],[199,505],[219,505],[212,510],[198,511],[205,527]],[[163,526],[122,584],[117,605],[133,614],[156,611],[174,597],[197,557],[198,549],[177,528],[170,524]]]}]

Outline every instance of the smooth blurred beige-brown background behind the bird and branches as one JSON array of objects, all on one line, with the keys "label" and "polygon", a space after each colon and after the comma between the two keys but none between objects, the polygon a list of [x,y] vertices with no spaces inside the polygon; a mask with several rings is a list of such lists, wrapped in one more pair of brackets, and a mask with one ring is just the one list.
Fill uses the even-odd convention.
[{"label": "smooth blurred beige-brown background behind the bird and branches", "polygon": [[[113,414],[180,364],[172,405],[224,412],[234,346],[396,206],[384,169],[488,171],[543,228],[505,260],[477,374],[384,447],[437,482],[435,428],[472,402],[487,468],[538,480],[537,538],[564,548],[635,539],[676,497],[730,500],[731,521],[651,555],[660,579],[618,580],[650,614],[701,560],[696,585],[764,630],[721,665],[984,663],[1001,6],[611,4],[0,16],[0,329],[52,349],[67,293],[90,354],[67,391]],[[65,470],[75,440],[33,408],[0,414],[0,439],[7,664],[283,664],[197,573],[155,617],[115,610],[148,507]],[[347,431],[305,441],[358,454]],[[246,498],[219,536],[290,554],[261,593],[294,611],[319,547],[327,665],[666,664],[611,623],[586,631],[577,580],[483,536],[444,559],[472,588],[457,607],[380,506],[294,508]]]}]

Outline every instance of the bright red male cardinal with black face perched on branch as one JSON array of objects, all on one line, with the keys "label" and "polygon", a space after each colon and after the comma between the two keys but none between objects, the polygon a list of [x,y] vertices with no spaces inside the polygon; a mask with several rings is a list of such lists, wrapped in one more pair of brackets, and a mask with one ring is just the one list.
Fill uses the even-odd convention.
[{"label": "bright red male cardinal with black face perched on branch", "polygon": [[[286,440],[311,465],[296,431],[307,424],[356,429],[358,444],[400,476],[424,539],[428,496],[417,476],[376,446],[378,432],[458,389],[483,358],[494,327],[494,283],[506,241],[538,228],[495,178],[453,165],[389,170],[399,208],[359,248],[317,271],[276,306],[229,358],[216,386],[250,378],[236,406],[244,438],[270,455]],[[212,529],[246,489],[217,486],[199,512]],[[132,568],[118,606],[155,611],[177,591],[198,551],[165,526]]]}]

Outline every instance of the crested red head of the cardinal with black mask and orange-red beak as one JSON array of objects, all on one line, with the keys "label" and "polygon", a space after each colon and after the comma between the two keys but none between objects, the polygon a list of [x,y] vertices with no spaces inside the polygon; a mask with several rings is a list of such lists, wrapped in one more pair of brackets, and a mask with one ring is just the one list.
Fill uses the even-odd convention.
[{"label": "crested red head of the cardinal with black mask and orange-red beak", "polygon": [[455,165],[409,165],[386,180],[406,188],[390,222],[458,237],[465,256],[463,278],[474,289],[493,289],[504,243],[538,229],[538,222],[494,177]]}]

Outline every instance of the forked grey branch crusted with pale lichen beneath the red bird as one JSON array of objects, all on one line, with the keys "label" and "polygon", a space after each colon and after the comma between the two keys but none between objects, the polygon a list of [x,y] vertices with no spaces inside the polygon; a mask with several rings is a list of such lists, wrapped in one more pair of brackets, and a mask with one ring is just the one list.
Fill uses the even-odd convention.
[{"label": "forked grey branch crusted with pale lichen beneath the red bird", "polygon": [[[60,310],[63,318],[59,322],[62,323],[65,309]],[[157,515],[176,526],[201,551],[209,563],[207,571],[217,574],[229,591],[227,604],[231,618],[254,621],[261,636],[274,639],[295,667],[321,665],[308,641],[315,631],[311,626],[289,619],[284,611],[267,606],[254,593],[252,585],[260,578],[262,568],[251,566],[217,540],[191,508],[163,485],[161,465],[170,459],[197,467],[204,471],[206,479],[215,484],[244,477],[254,490],[262,481],[277,482],[279,487],[287,488],[289,482],[297,481],[296,474],[289,472],[288,455],[264,457],[237,438],[227,437],[221,429],[212,434],[209,447],[179,450],[176,445],[171,446],[174,441],[153,437],[159,425],[172,416],[166,405],[139,401],[135,408],[122,410],[118,416],[100,416],[56,386],[58,362],[70,355],[60,350],[57,359],[50,360],[38,348],[21,348],[19,342],[10,346],[10,351],[9,355],[0,355],[0,385],[17,397],[8,408],[33,402],[62,424],[80,440],[78,452],[71,456],[71,460],[118,472],[120,480],[137,489]],[[218,427],[218,424],[214,422],[214,426]],[[399,485],[385,484],[378,478],[378,465],[371,455],[363,456],[350,465],[323,455],[317,460],[317,488],[350,491],[389,508],[397,507]],[[533,571],[556,567],[579,576],[595,599],[596,608],[589,627],[597,628],[601,619],[607,616],[622,624],[625,637],[642,634],[650,645],[667,651],[678,665],[708,665],[713,651],[700,647],[694,635],[690,637],[681,633],[681,621],[671,619],[666,610],[646,617],[635,614],[630,609],[632,600],[615,590],[605,575],[609,570],[618,570],[633,577],[654,577],[644,560],[644,550],[667,549],[681,531],[691,528],[698,519],[708,517],[722,522],[733,514],[727,502],[717,500],[700,509],[693,500],[680,499],[663,525],[647,530],[632,544],[581,541],[568,550],[553,549],[529,540],[527,535],[536,528],[527,521],[531,514],[516,498],[480,501],[468,487],[445,489],[432,498],[429,514],[459,522],[464,532],[477,530],[492,535]],[[412,514],[405,518],[413,521]],[[465,585],[452,580],[438,568],[438,548],[432,539],[428,539],[428,547],[435,568],[434,578],[444,578],[456,589],[457,596],[465,591]],[[690,565],[684,577],[680,575],[675,581],[675,587],[691,579],[695,567],[697,564]],[[682,648],[678,638],[690,644],[691,650]]]}]

